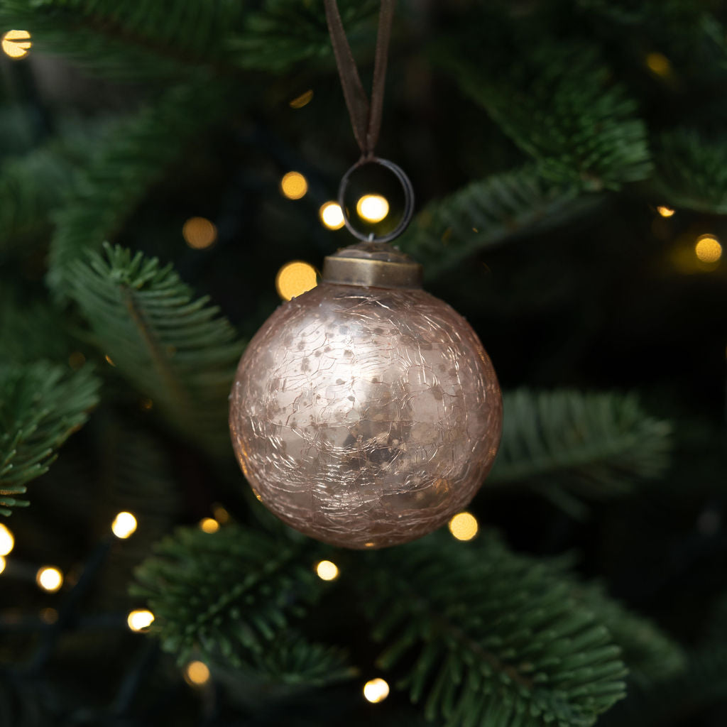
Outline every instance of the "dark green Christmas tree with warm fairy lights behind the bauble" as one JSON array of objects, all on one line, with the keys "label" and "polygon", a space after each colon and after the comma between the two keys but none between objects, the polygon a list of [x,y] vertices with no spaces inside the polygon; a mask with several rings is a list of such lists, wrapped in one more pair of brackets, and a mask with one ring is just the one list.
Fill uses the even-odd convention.
[{"label": "dark green Christmas tree with warm fairy lights behind the bauble", "polygon": [[[370,87],[379,4],[339,7]],[[323,3],[0,0],[0,35],[2,726],[724,722],[721,4],[398,5],[396,244],[505,418],[467,512],[361,551],[228,430],[353,241]]]}]

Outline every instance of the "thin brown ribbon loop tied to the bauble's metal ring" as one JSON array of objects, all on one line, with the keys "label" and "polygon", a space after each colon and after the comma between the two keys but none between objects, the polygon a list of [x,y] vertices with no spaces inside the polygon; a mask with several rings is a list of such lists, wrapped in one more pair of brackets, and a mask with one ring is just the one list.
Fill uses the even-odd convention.
[{"label": "thin brown ribbon loop tied to the bauble's metal ring", "polygon": [[379,31],[376,39],[374,57],[374,81],[371,85],[371,103],[366,98],[361,77],[358,76],[356,61],[353,60],[351,47],[341,22],[336,0],[324,0],[326,20],[331,35],[333,52],[336,56],[338,74],[341,77],[343,97],[351,117],[353,135],[356,137],[362,158],[374,156],[374,147],[379,140],[381,115],[384,108],[384,86],[386,80],[386,60],[391,37],[391,24],[394,17],[395,0],[381,0],[379,12]]}]

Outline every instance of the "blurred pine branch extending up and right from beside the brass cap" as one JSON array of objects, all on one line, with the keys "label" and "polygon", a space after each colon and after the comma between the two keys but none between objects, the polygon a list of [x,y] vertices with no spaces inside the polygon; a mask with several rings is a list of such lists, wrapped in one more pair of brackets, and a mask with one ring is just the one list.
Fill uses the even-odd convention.
[{"label": "blurred pine branch extending up and right from beside the brass cap", "polygon": [[577,182],[553,182],[535,165],[494,174],[427,204],[398,246],[430,276],[441,274],[478,250],[590,211],[601,197],[583,191]]}]

